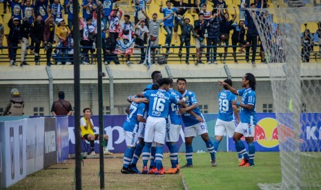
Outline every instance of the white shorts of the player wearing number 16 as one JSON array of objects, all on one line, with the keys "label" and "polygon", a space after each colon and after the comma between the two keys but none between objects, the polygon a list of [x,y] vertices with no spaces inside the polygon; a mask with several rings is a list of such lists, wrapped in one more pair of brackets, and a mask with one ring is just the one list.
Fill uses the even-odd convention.
[{"label": "white shorts of the player wearing number 16", "polygon": [[166,136],[166,119],[148,116],[145,127],[145,142],[164,144]]}]

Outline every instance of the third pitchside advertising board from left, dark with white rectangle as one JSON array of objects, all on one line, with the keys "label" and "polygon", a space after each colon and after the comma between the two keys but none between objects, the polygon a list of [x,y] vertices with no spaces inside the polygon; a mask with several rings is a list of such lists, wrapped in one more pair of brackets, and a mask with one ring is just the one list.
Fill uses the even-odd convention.
[{"label": "third pitchside advertising board from left, dark with white rectangle", "polygon": [[43,168],[57,163],[56,118],[45,118]]}]

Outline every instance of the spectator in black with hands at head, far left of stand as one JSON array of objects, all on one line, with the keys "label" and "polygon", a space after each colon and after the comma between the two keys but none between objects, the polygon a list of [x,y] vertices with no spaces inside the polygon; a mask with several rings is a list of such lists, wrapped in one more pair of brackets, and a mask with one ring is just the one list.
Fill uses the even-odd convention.
[{"label": "spectator in black with hands at head, far left of stand", "polygon": [[10,65],[17,66],[16,63],[16,54],[17,47],[20,39],[20,29],[22,27],[20,20],[18,18],[11,18],[8,22],[8,27],[10,28],[10,32],[8,35],[8,49],[9,49],[9,57],[10,57]]}]

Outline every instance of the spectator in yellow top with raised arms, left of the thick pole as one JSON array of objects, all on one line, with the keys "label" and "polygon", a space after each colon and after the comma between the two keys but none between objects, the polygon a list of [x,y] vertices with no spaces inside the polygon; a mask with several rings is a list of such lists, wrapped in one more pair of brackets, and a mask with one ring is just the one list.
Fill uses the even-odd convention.
[{"label": "spectator in yellow top with raised arms, left of the thick pole", "polygon": [[59,22],[56,28],[56,35],[58,39],[57,47],[59,47],[57,52],[57,65],[61,65],[63,62],[66,65],[71,65],[71,62],[68,61],[68,41],[67,37],[70,36],[70,30],[67,27],[64,19],[57,19]]}]

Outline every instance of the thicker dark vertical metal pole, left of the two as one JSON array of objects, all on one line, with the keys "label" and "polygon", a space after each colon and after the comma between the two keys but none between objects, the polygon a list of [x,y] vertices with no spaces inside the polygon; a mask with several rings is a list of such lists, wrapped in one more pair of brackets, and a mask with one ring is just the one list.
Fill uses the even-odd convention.
[{"label": "thicker dark vertical metal pole, left of the two", "polygon": [[73,40],[74,40],[74,97],[75,97],[75,154],[76,154],[76,189],[81,189],[81,141],[80,141],[80,32],[79,32],[79,3],[72,0],[73,6]]}]

